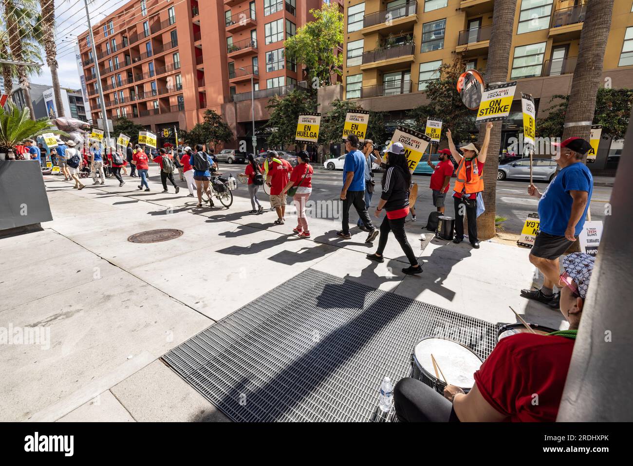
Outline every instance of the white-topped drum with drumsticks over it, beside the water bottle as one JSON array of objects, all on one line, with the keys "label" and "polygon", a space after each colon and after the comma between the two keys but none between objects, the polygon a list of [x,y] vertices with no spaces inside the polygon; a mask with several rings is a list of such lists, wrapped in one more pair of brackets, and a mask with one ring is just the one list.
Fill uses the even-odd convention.
[{"label": "white-topped drum with drumsticks over it, beside the water bottle", "polygon": [[[439,369],[439,379],[435,375],[431,355],[435,357]],[[482,359],[472,349],[444,337],[425,337],[413,349],[413,370],[411,377],[444,393],[444,379],[451,385],[461,387],[468,393],[475,384],[473,374],[482,365]]]}]

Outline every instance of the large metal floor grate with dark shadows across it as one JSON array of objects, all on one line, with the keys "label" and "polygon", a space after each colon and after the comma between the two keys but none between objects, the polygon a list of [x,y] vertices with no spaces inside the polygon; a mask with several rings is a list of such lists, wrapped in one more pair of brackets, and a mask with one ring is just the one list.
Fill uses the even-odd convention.
[{"label": "large metal floor grate with dark shadows across it", "polygon": [[[484,332],[483,339],[473,338]],[[443,334],[482,358],[496,327],[308,269],[172,349],[170,367],[235,421],[369,421],[380,382]],[[492,336],[492,337],[489,337]]]}]

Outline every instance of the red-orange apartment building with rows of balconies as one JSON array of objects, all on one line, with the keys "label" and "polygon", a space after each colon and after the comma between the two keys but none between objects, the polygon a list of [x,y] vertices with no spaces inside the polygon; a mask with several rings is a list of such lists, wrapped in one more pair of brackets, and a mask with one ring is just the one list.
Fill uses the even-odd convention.
[{"label": "red-orange apartment building with rows of balconies", "polygon": [[[130,118],[163,144],[174,142],[174,128],[191,129],[211,109],[234,130],[232,146],[242,138],[250,146],[251,92],[259,128],[268,99],[304,78],[300,65],[285,59],[284,40],[313,20],[310,9],[330,1],[130,1],[93,26],[96,57],[87,31],[78,38],[92,118],[101,115],[99,66],[108,118]],[[261,147],[265,136],[258,137]]]}]

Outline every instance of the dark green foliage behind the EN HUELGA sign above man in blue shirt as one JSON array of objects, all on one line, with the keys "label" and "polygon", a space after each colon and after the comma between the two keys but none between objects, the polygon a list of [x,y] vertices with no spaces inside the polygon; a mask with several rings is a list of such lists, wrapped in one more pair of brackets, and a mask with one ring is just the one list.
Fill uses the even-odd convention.
[{"label": "dark green foliage behind the EN HUELGA sign above man in blue shirt", "polygon": [[[332,110],[321,118],[319,139],[322,144],[341,142],[345,116],[348,111],[363,110],[363,108],[354,101],[342,101],[339,99],[332,102],[332,107]],[[367,138],[382,144],[389,136],[391,136],[391,134],[385,132],[384,112],[370,111]]]}]

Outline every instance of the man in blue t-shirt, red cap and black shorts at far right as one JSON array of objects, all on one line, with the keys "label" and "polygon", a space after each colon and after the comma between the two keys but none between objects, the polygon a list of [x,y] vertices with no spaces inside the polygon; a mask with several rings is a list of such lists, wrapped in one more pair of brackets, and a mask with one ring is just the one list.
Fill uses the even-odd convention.
[{"label": "man in blue t-shirt, red cap and black shorts at far right", "polygon": [[530,251],[530,263],[543,274],[541,289],[522,289],[521,296],[536,299],[551,307],[558,307],[560,293],[553,292],[559,284],[558,258],[578,239],[585,223],[591,194],[593,177],[582,163],[582,156],[591,149],[591,144],[580,137],[570,137],[553,146],[560,148],[553,160],[561,168],[541,193],[533,184],[527,189],[530,196],[540,198],[539,232]]}]

